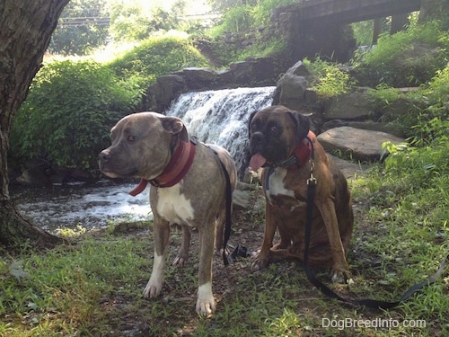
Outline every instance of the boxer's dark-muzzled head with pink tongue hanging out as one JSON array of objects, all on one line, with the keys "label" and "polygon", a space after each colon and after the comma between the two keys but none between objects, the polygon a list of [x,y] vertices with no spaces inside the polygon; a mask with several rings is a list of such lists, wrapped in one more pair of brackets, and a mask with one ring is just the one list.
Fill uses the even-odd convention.
[{"label": "boxer's dark-muzzled head with pink tongue hanging out", "polygon": [[288,159],[309,129],[308,116],[282,105],[253,112],[249,122],[251,169]]}]

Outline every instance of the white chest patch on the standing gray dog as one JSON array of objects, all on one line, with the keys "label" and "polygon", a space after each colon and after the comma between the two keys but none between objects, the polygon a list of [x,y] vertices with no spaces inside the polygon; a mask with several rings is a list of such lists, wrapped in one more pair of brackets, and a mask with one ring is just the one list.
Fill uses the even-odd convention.
[{"label": "white chest patch on the standing gray dog", "polygon": [[180,184],[158,189],[157,212],[167,221],[182,225],[190,225],[194,218],[194,209],[190,200],[180,193]]}]

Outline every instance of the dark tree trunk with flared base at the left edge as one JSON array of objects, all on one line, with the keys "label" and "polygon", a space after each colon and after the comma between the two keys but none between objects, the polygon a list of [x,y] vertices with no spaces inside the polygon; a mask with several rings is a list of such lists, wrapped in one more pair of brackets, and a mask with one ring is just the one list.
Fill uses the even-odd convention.
[{"label": "dark tree trunk with flared base at the left edge", "polygon": [[60,241],[23,219],[8,189],[9,132],[69,0],[0,0],[0,243]]}]

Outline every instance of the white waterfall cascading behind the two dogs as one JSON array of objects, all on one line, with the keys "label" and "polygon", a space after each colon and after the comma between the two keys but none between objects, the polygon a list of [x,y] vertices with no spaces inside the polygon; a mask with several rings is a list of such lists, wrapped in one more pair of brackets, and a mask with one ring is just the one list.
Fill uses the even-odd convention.
[{"label": "white waterfall cascading behind the two dogs", "polygon": [[242,177],[249,160],[248,119],[251,112],[271,105],[275,89],[266,86],[183,93],[166,115],[183,120],[189,134],[200,141],[225,147]]}]

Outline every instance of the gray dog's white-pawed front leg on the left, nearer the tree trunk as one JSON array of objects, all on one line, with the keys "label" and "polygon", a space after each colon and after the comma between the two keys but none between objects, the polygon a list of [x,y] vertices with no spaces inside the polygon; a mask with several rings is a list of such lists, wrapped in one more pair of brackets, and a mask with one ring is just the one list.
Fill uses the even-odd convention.
[{"label": "gray dog's white-pawed front leg on the left, nearer the tree trunk", "polygon": [[170,226],[167,221],[154,218],[154,263],[151,277],[144,289],[145,298],[157,297],[163,288],[165,254],[170,238]]}]

